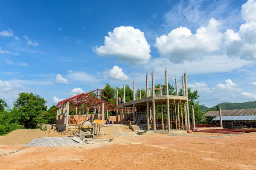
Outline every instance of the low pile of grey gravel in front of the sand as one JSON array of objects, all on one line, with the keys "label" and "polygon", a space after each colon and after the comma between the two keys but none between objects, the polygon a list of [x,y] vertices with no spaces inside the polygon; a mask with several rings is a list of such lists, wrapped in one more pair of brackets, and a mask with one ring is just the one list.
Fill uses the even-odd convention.
[{"label": "low pile of grey gravel in front of the sand", "polygon": [[62,146],[75,144],[79,143],[67,137],[44,137],[32,140],[28,146]]}]

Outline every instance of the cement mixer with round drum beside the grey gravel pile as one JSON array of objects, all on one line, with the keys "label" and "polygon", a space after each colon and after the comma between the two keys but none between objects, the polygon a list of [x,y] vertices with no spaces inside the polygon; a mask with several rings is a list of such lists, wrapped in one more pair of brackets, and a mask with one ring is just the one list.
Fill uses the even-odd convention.
[{"label": "cement mixer with round drum beside the grey gravel pile", "polygon": [[[85,120],[81,124],[76,124],[76,132],[79,133],[84,138],[86,136],[91,136],[93,139],[98,135],[98,127],[100,124],[105,123],[104,120],[95,119],[93,122]],[[99,128],[100,133],[100,128]]]}]

